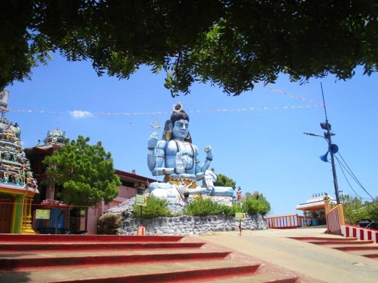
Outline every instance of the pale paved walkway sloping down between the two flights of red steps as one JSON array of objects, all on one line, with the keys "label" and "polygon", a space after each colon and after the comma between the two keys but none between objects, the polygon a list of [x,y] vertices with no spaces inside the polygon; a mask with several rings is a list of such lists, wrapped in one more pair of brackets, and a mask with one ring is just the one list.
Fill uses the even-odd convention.
[{"label": "pale paved walkway sloping down between the two flights of red steps", "polygon": [[324,234],[325,227],[216,232],[206,240],[266,262],[329,283],[377,283],[378,260],[352,255],[294,239],[290,236],[339,237]]}]

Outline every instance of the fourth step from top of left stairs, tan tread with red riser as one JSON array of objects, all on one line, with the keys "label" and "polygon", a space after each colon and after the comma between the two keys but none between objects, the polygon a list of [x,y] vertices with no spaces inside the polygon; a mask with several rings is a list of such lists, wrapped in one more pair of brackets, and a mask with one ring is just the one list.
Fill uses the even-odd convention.
[{"label": "fourth step from top of left stairs, tan tread with red riser", "polygon": [[[189,261],[185,264],[159,263],[102,267],[0,272],[0,282],[44,283],[152,283],[193,282],[252,276],[259,264],[232,260]],[[218,281],[219,282],[219,281]]]}]

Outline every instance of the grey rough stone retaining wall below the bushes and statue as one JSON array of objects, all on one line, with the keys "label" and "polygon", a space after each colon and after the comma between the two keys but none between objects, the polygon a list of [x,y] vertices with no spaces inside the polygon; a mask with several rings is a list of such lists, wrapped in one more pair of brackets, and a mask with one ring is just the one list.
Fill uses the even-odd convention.
[{"label": "grey rough stone retaining wall below the bushes and statue", "polygon": [[[136,235],[140,219],[128,218],[121,222],[118,234]],[[238,231],[239,221],[234,216],[180,216],[143,219],[146,235],[195,235],[207,232]],[[268,225],[262,215],[248,216],[242,221],[242,230],[263,230]]]}]

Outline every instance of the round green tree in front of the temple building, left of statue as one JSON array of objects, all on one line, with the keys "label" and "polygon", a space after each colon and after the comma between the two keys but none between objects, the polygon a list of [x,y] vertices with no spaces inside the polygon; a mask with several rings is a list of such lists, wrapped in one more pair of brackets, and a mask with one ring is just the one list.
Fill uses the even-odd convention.
[{"label": "round green tree in front of the temple building, left of statue", "polygon": [[88,142],[89,138],[79,136],[43,160],[50,181],[62,188],[56,199],[69,205],[95,206],[101,198],[109,202],[118,195],[121,181],[110,152],[101,142]]}]

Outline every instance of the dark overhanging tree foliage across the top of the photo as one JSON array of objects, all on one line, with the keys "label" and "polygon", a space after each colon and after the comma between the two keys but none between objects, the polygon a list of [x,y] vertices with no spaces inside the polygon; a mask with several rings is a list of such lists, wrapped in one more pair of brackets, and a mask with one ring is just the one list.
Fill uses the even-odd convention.
[{"label": "dark overhanging tree foliage across the top of the photo", "polygon": [[377,72],[376,0],[6,0],[0,89],[58,52],[98,75],[164,70],[172,96],[194,82],[239,95],[255,83]]}]

